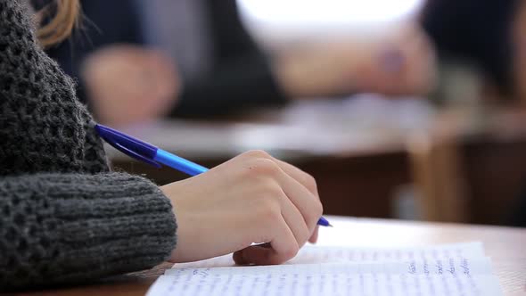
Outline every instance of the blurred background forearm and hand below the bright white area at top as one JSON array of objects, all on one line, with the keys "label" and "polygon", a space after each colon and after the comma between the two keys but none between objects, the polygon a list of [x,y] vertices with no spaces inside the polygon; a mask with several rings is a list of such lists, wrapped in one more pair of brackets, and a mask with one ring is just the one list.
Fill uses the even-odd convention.
[{"label": "blurred background forearm and hand below the bright white area at top", "polygon": [[427,95],[435,79],[435,54],[421,29],[407,28],[382,42],[342,40],[282,53],[275,76],[293,98]]}]

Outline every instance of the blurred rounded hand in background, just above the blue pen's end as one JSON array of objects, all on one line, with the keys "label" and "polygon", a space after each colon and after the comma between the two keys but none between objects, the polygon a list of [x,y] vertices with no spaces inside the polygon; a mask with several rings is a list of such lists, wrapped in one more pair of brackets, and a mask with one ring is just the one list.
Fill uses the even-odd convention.
[{"label": "blurred rounded hand in background, just above the blue pen's end", "polygon": [[176,103],[175,69],[158,51],[112,45],[88,57],[81,76],[97,119],[121,126],[156,119]]}]

